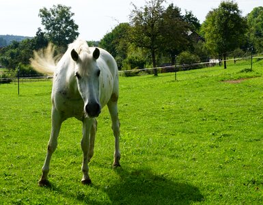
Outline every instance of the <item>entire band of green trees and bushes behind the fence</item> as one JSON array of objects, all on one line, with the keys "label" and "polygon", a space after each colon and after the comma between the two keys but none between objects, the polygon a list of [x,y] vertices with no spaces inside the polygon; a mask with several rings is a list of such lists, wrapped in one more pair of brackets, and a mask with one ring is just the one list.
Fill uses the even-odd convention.
[{"label": "entire band of green trees and bushes behind the fence", "polygon": [[[242,55],[240,48],[251,45],[258,53],[263,52],[263,7],[254,8],[244,18],[237,3],[222,1],[207,14],[200,28],[193,12],[186,11],[183,15],[173,3],[166,8],[164,3],[165,0],[146,0],[141,8],[133,5],[129,23],[120,23],[100,42],[89,41],[89,46],[109,51],[122,70],[157,67],[166,64],[169,58],[174,64],[175,56],[178,64],[208,61],[211,54],[224,59],[227,55],[237,57]],[[38,28],[34,38],[10,44],[0,36],[1,66],[15,70],[18,65],[29,64],[33,50],[42,49],[49,41],[57,46],[57,53],[64,53],[66,45],[79,35],[70,9],[64,5],[42,8],[39,16],[44,31]],[[157,75],[157,70],[154,74]]]}]

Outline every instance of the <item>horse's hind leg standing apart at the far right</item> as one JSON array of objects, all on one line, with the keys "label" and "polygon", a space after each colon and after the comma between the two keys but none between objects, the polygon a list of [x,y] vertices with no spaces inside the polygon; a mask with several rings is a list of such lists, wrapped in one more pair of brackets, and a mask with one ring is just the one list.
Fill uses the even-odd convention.
[{"label": "horse's hind leg standing apart at the far right", "polygon": [[114,167],[120,167],[120,120],[117,113],[117,96],[113,94],[107,104],[111,114],[112,130],[115,137]]}]

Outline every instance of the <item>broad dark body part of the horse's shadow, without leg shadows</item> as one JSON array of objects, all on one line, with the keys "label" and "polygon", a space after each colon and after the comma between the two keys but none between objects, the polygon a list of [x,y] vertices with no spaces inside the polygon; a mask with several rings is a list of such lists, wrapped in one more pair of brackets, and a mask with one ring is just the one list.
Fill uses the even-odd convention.
[{"label": "broad dark body part of the horse's shadow, without leg shadows", "polygon": [[104,190],[113,204],[191,204],[204,200],[197,187],[157,176],[148,169],[127,171],[119,167],[115,172],[121,180]]}]

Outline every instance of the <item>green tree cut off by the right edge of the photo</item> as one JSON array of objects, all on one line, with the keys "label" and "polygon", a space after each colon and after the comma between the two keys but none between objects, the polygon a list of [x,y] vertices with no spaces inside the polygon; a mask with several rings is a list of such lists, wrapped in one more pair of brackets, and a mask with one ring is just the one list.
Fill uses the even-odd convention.
[{"label": "green tree cut off by the right edge of the photo", "polygon": [[249,39],[256,51],[263,52],[263,7],[257,7],[247,15]]}]

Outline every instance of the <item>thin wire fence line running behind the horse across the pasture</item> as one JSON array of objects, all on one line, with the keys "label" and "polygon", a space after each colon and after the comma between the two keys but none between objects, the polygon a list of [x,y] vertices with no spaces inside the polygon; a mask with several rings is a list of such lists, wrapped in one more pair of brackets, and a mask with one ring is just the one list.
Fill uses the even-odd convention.
[{"label": "thin wire fence line running behind the horse across the pasture", "polygon": [[[252,58],[253,59],[263,59],[262,56],[258,56],[258,55],[263,55],[263,53],[258,53],[256,55],[253,55]],[[193,68],[195,66],[203,66],[202,68],[208,68],[208,67],[214,67],[219,63],[223,63],[224,61],[238,61],[238,60],[247,60],[247,59],[251,59],[250,57],[238,57],[238,58],[233,58],[233,59],[226,59],[226,60],[219,60],[219,59],[212,59],[211,61],[206,61],[206,62],[200,62],[200,63],[193,63],[193,64],[179,64],[176,66],[158,66],[155,68],[140,68],[140,69],[132,69],[132,70],[119,70],[119,74],[122,73],[126,73],[126,72],[152,72],[152,70],[157,69],[160,70],[161,72],[180,72],[180,71],[186,71],[186,70],[190,70],[189,68]],[[204,67],[205,66],[205,67]],[[180,68],[182,68],[180,70]],[[195,70],[198,70],[200,68],[195,68]],[[50,79],[53,79],[53,76],[35,76],[35,77],[16,77],[16,78],[0,78],[0,84],[1,83],[10,83],[10,82],[17,82],[18,80],[20,82],[23,81],[49,81]]]}]

